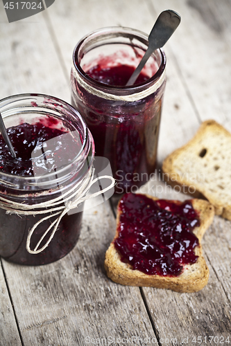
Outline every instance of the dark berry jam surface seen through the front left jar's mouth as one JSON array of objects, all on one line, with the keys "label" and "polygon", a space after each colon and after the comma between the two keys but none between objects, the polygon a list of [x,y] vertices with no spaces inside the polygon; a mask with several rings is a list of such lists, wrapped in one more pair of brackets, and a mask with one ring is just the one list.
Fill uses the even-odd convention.
[{"label": "dark berry jam surface seen through the front left jar's mouth", "polygon": [[[33,176],[33,169],[40,174],[52,171],[69,163],[80,149],[80,140],[67,134],[67,130],[55,128],[55,118],[36,122],[34,125],[23,123],[7,129],[17,159],[12,158],[8,147],[0,136],[0,170],[8,174]],[[60,137],[58,137],[60,136]],[[57,138],[53,144],[43,147],[42,143]]]}]

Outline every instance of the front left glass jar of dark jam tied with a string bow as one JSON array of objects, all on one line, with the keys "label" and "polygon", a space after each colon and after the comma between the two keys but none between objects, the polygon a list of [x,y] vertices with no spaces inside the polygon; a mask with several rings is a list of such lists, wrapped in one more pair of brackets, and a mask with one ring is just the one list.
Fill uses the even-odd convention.
[{"label": "front left glass jar of dark jam tied with a string bow", "polygon": [[[78,193],[78,186],[83,182],[86,185],[91,179],[92,134],[76,109],[49,95],[10,96],[0,101],[0,111],[6,128],[22,126],[25,134],[31,125],[42,124],[52,133],[62,132],[36,146],[32,153],[31,176],[12,174],[0,167],[0,255],[17,264],[54,262],[74,248],[80,234],[83,211],[64,212],[63,217],[60,214],[76,186]],[[65,142],[62,136],[70,137]],[[15,146],[15,152],[17,149]],[[14,169],[24,165],[20,158],[12,159],[12,163]],[[41,170],[43,165],[46,165],[45,171]],[[29,235],[35,224],[33,234]],[[51,224],[53,227],[49,230]],[[52,237],[55,225],[58,227]],[[40,244],[38,250],[34,251],[37,244]],[[41,248],[44,248],[42,252]]]}]

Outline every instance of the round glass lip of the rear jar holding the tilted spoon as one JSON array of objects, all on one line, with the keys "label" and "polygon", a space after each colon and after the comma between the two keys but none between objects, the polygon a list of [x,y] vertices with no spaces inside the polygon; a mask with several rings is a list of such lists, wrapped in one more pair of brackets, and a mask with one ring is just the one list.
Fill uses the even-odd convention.
[{"label": "round glass lip of the rear jar holding the tilted spoon", "polygon": [[160,64],[159,69],[157,70],[157,72],[155,73],[155,75],[153,75],[151,78],[149,78],[148,80],[146,80],[145,82],[139,83],[139,84],[133,84],[133,85],[128,85],[128,86],[113,86],[113,85],[108,85],[105,83],[101,83],[99,81],[94,80],[93,78],[89,77],[89,75],[87,75],[85,73],[85,71],[83,71],[83,69],[81,68],[79,62],[76,62],[76,52],[79,51],[80,47],[83,45],[83,43],[85,42],[85,39],[96,35],[96,34],[103,34],[103,33],[128,33],[130,35],[133,35],[134,37],[136,37],[137,39],[146,39],[146,41],[148,42],[148,35],[140,30],[137,29],[133,29],[133,28],[128,28],[126,26],[107,26],[105,28],[99,28],[97,30],[93,30],[91,33],[88,33],[87,35],[85,35],[82,39],[80,39],[80,41],[76,44],[74,51],[73,51],[73,64],[74,67],[76,69],[76,71],[78,71],[78,73],[80,74],[81,78],[83,78],[85,81],[93,84],[93,86],[95,86],[96,88],[102,88],[107,90],[109,93],[113,93],[113,91],[126,91],[126,92],[130,92],[130,93],[137,93],[139,91],[141,91],[144,86],[146,88],[148,88],[149,86],[152,86],[153,84],[155,84],[155,82],[157,80],[159,80],[160,76],[162,75],[162,73],[164,72],[165,66],[166,66],[166,55],[163,51],[162,48],[157,49],[157,51],[160,53],[160,56],[162,58],[162,62]]}]

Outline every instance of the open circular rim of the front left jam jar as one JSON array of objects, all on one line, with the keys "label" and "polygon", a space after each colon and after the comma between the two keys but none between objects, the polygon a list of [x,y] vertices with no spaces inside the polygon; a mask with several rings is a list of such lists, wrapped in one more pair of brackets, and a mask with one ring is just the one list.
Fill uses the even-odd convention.
[{"label": "open circular rim of the front left jam jar", "polygon": [[[22,108],[24,107],[24,105],[22,104],[21,106],[17,106],[16,108],[13,108],[14,105],[16,104],[16,102],[20,102],[20,101],[24,101],[24,100],[30,100],[30,102],[33,102],[37,100],[37,98],[43,98],[44,99],[44,104],[40,104],[39,107],[44,107],[44,111],[46,111],[46,113],[49,116],[54,116],[55,115],[51,113],[51,111],[59,111],[60,114],[62,114],[62,116],[65,116],[65,113],[69,113],[69,115],[71,116],[76,116],[76,120],[80,120],[80,124],[83,127],[83,143],[80,147],[80,150],[78,151],[78,153],[76,154],[76,156],[74,156],[73,159],[71,159],[71,161],[69,163],[67,163],[66,165],[58,168],[55,172],[46,172],[46,174],[44,174],[44,176],[46,176],[46,179],[49,180],[51,183],[52,181],[54,181],[53,176],[62,176],[62,174],[65,174],[65,172],[67,170],[69,170],[71,168],[71,165],[73,165],[74,163],[78,162],[78,159],[80,159],[81,157],[83,157],[83,155],[85,154],[85,151],[88,150],[89,152],[89,148],[87,148],[87,144],[89,143],[90,140],[90,144],[92,147],[92,158],[91,161],[89,163],[89,167],[92,164],[92,161],[94,159],[94,140],[92,137],[92,134],[90,133],[85,120],[83,119],[83,117],[81,116],[80,112],[75,109],[73,106],[71,106],[71,104],[69,104],[68,102],[61,100],[60,98],[56,98],[55,96],[51,96],[51,95],[47,95],[47,94],[43,94],[43,93],[19,93],[19,94],[15,94],[15,95],[10,95],[6,98],[3,98],[0,100],[0,111],[1,111],[1,115],[4,118],[4,113],[6,113],[6,111],[10,111],[10,107],[12,107],[12,110],[15,109],[19,109],[18,113],[22,113]],[[50,102],[51,101],[51,102]],[[54,102],[54,103],[52,103]],[[8,107],[10,106],[8,109],[5,109],[2,111],[3,107]],[[60,106],[60,109],[58,110],[58,106]],[[26,107],[28,107],[28,104],[26,105]],[[35,106],[33,106],[31,104],[31,109],[34,109],[35,113]],[[50,113],[49,113],[50,111]],[[62,111],[62,113],[61,113]],[[15,112],[11,114],[12,116],[15,115]],[[57,116],[57,114],[56,114]],[[21,176],[18,174],[10,174],[10,173],[6,173],[6,172],[2,172],[0,171],[1,177],[6,178],[6,181],[8,181],[7,183],[7,187],[11,187],[15,188],[15,184],[10,182],[10,179],[12,179],[13,181],[15,181],[17,179],[18,182],[21,181],[24,182],[26,185],[28,186],[37,186],[38,188],[40,187],[40,183],[38,183],[36,181],[35,183],[35,176]],[[82,178],[83,176],[81,176],[80,178]],[[6,182],[5,179],[1,179],[0,181],[3,181],[4,183]],[[41,184],[42,185],[42,184]]]}]

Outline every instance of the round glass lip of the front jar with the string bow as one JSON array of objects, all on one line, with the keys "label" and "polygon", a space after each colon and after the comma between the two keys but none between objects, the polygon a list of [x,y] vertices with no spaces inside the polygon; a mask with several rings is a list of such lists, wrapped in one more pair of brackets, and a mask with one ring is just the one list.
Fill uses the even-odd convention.
[{"label": "round glass lip of the front jar with the string bow", "polygon": [[[73,163],[75,163],[78,158],[80,158],[81,156],[83,156],[83,154],[85,154],[85,149],[87,147],[87,143],[88,140],[90,138],[91,140],[91,145],[92,145],[92,159],[91,162],[89,163],[89,166],[92,164],[92,161],[94,159],[94,140],[92,137],[92,134],[90,133],[87,124],[85,122],[85,120],[83,119],[83,117],[81,116],[81,114],[79,113],[79,111],[77,109],[75,109],[74,107],[71,106],[71,104],[69,104],[68,102],[61,100],[60,98],[56,98],[55,96],[51,96],[51,95],[47,95],[47,94],[43,94],[43,93],[19,93],[19,94],[15,94],[15,95],[10,95],[6,98],[3,98],[0,100],[0,111],[1,111],[1,115],[3,116],[4,111],[2,111],[2,107],[6,107],[10,104],[13,104],[16,101],[23,101],[23,100],[35,100],[35,98],[44,98],[44,100],[51,100],[54,102],[58,102],[59,105],[61,105],[61,107],[67,107],[67,109],[70,111],[70,113],[74,116],[78,117],[78,120],[80,120],[81,125],[83,126],[83,130],[84,130],[84,138],[83,138],[83,143],[82,146],[80,147],[80,150],[78,151],[78,154],[76,154],[76,156],[67,164],[64,165],[64,167],[60,167],[60,169],[56,170],[55,172],[49,172],[46,173],[45,176],[48,180],[51,179],[52,176],[57,176],[57,174],[62,174],[65,173],[66,170],[68,170],[69,168],[71,168],[71,165],[73,165]],[[52,103],[51,103],[52,104]],[[23,105],[17,107],[17,108],[22,108]],[[31,106],[33,107],[33,106]],[[40,105],[40,107],[42,107],[42,105]],[[34,107],[33,107],[34,108]],[[14,108],[13,108],[14,109]],[[44,109],[46,109],[46,111],[48,112],[49,109],[53,109],[51,107],[49,107],[49,102],[44,102]],[[6,111],[8,111],[9,109],[6,109]],[[13,114],[12,114],[13,115]],[[52,116],[52,114],[50,114]],[[4,116],[3,116],[4,118]],[[20,176],[17,174],[10,174],[10,173],[6,173],[6,172],[1,172],[1,177],[5,177],[6,179],[17,179],[17,181],[21,181],[24,183],[27,183],[28,185],[38,185],[37,183],[34,183],[35,181],[35,176]],[[2,179],[1,179],[2,180]],[[52,181],[52,180],[51,180]],[[14,183],[7,183],[9,186],[10,185],[15,185]]]}]

